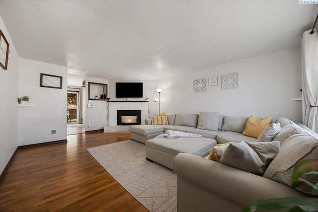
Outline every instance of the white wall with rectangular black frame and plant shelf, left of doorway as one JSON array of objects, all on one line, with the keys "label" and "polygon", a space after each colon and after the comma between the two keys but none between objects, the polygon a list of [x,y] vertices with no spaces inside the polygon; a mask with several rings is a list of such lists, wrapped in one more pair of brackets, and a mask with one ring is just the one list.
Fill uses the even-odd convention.
[{"label": "white wall with rectangular black frame and plant shelf, left of doorway", "polygon": [[[62,76],[62,89],[40,87],[40,73]],[[67,67],[20,59],[19,85],[19,96],[36,105],[19,108],[19,145],[67,139]]]}]

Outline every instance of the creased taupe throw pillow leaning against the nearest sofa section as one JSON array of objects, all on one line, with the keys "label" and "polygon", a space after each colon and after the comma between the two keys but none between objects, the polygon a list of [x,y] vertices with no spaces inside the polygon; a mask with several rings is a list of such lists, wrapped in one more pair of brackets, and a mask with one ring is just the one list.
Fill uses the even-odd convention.
[{"label": "creased taupe throw pillow leaning against the nearest sofa section", "polygon": [[263,175],[278,153],[279,145],[279,141],[230,143],[219,162],[252,174]]}]

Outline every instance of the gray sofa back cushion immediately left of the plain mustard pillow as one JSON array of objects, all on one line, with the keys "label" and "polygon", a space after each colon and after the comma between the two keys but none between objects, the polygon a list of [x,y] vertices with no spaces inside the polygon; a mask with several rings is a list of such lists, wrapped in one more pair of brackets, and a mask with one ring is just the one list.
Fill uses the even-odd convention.
[{"label": "gray sofa back cushion immediately left of the plain mustard pillow", "polygon": [[233,131],[242,133],[245,130],[246,122],[249,117],[225,116],[222,131]]}]

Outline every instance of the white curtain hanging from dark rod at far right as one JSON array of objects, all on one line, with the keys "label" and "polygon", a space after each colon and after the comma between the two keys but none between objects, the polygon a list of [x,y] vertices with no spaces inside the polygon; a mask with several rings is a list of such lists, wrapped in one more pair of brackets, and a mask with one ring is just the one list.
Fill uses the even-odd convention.
[{"label": "white curtain hanging from dark rod at far right", "polygon": [[311,31],[302,40],[303,123],[318,133],[318,32]]}]

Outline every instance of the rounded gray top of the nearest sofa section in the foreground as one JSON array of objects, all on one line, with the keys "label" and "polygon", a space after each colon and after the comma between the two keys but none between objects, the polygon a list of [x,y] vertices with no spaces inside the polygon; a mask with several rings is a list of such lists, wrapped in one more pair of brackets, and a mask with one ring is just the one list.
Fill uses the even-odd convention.
[{"label": "rounded gray top of the nearest sofa section in the foreground", "polygon": [[261,199],[306,196],[276,181],[185,153],[175,156],[173,171],[178,178],[243,207]]}]

